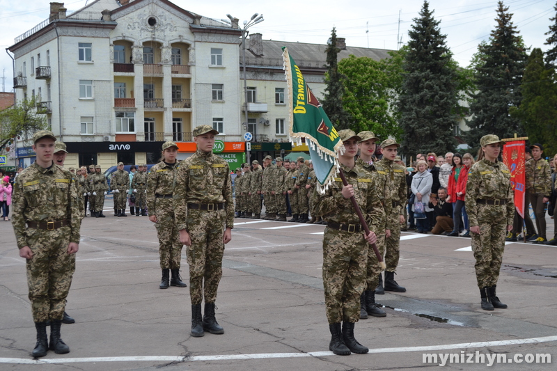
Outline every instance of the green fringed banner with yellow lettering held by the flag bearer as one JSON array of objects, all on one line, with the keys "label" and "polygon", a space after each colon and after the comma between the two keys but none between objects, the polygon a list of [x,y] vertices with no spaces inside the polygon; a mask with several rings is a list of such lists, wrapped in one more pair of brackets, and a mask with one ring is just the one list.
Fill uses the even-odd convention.
[{"label": "green fringed banner with yellow lettering held by the flag bearer", "polygon": [[286,47],[283,47],[283,58],[290,97],[290,140],[300,145],[305,139],[317,188],[323,192],[338,173],[336,155],[344,150],[343,142]]}]

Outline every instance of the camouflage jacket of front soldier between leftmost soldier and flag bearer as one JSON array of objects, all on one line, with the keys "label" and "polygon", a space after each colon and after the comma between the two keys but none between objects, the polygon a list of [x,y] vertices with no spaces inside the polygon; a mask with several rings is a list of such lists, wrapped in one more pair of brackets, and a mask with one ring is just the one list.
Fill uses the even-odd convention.
[{"label": "camouflage jacket of front soldier between leftmost soldier and flag bearer", "polygon": [[178,230],[188,230],[188,203],[224,203],[225,228],[234,227],[234,200],[228,162],[213,152],[201,150],[180,162],[174,181],[173,200]]}]

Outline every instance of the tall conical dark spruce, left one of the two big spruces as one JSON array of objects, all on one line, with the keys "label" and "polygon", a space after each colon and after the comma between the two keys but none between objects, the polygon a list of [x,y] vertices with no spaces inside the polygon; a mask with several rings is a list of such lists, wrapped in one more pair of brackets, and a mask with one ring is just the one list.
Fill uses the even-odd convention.
[{"label": "tall conical dark spruce, left one of the two big spruces", "polygon": [[409,31],[398,100],[402,152],[448,152],[456,146],[457,73],[452,54],[427,1]]}]

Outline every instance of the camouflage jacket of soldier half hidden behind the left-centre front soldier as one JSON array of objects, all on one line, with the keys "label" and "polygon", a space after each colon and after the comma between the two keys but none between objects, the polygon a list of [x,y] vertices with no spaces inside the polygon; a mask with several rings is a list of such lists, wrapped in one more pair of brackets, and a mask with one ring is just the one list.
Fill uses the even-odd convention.
[{"label": "camouflage jacket of soldier half hidden behind the left-centre front soldier", "polygon": [[158,195],[173,194],[174,177],[178,172],[179,161],[176,161],[174,166],[160,161],[155,166],[152,166],[147,174],[147,193],[146,203],[149,216],[157,215],[157,208],[155,198]]}]

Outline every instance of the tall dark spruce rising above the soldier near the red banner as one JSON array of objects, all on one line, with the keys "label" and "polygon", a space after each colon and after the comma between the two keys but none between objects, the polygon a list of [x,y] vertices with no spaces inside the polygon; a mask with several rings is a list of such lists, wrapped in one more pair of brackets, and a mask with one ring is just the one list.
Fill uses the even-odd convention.
[{"label": "tall dark spruce rising above the soldier near the red banner", "polygon": [[487,134],[499,138],[524,134],[520,120],[509,114],[510,107],[520,106],[520,83],[526,65],[526,48],[511,19],[508,7],[499,1],[496,29],[476,54],[476,93],[472,94],[470,104],[473,117],[467,122],[470,130],[464,135],[474,150],[479,148],[480,138]]}]

